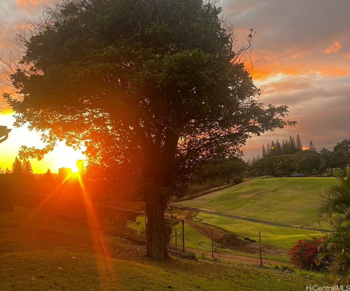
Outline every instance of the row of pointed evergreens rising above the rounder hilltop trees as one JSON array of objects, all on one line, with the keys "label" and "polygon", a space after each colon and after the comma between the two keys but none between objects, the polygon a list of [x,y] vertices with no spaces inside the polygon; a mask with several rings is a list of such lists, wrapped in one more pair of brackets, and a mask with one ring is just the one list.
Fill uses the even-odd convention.
[{"label": "row of pointed evergreens rising above the rounder hilltop trees", "polygon": [[[289,140],[282,140],[282,144],[278,141],[272,140],[271,144],[267,143],[266,147],[265,145],[262,145],[262,158],[267,158],[267,157],[273,157],[273,156],[280,156],[282,154],[295,154],[297,152],[300,152],[303,150],[303,145],[301,143],[299,134],[296,135],[296,139],[292,136],[289,136]],[[314,143],[312,140],[310,140],[309,143],[309,151],[316,152],[316,147],[314,146]],[[254,164],[255,161],[260,159],[260,155],[257,157],[253,156],[253,159],[247,160],[248,166],[251,166]]]}]

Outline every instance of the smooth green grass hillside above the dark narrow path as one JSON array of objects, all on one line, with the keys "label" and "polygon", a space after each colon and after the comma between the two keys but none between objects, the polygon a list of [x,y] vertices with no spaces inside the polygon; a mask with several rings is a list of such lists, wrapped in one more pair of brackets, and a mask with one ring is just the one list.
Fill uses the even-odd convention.
[{"label": "smooth green grass hillside above the dark narrow path", "polygon": [[335,178],[252,179],[179,205],[212,210],[287,225],[321,227],[314,220],[314,207],[323,185]]}]

